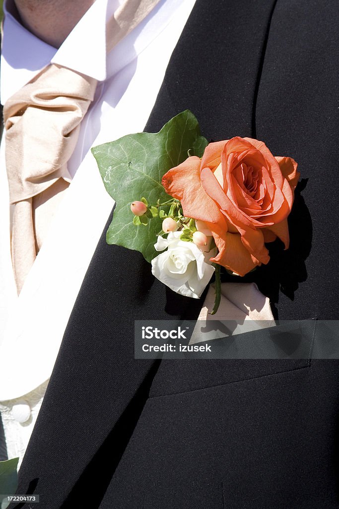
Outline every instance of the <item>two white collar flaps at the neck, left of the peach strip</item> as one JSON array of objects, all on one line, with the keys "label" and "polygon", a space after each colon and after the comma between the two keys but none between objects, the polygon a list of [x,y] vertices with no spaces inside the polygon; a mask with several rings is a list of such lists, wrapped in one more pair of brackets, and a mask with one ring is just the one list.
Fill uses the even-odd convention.
[{"label": "two white collar flaps at the neck, left of the peach strip", "polygon": [[[119,0],[96,0],[56,49],[26,30],[15,17],[13,0],[7,0],[0,74],[2,104],[49,63],[104,80],[106,19],[118,5]],[[94,32],[95,37],[90,37]]]}]

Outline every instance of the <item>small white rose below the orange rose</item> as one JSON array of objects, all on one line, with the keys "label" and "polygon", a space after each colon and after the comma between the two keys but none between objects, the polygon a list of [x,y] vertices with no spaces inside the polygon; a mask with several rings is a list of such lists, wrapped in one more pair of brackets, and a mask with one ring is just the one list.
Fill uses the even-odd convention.
[{"label": "small white rose below the orange rose", "polygon": [[167,239],[158,237],[157,251],[167,251],[152,260],[152,274],[174,292],[199,299],[208,285],[214,267],[210,255],[193,242],[180,240],[181,232],[170,232]]}]

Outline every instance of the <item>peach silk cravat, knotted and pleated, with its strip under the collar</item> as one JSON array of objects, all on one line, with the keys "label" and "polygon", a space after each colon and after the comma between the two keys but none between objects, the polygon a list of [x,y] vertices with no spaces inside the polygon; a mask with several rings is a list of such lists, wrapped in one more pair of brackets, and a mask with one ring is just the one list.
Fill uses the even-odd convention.
[{"label": "peach silk cravat, knotted and pleated, with its strip under the collar", "polygon": [[[107,51],[158,2],[125,0],[107,23]],[[71,181],[67,162],[96,86],[94,78],[50,64],[4,106],[6,168],[14,205],[12,262],[18,293]]]}]

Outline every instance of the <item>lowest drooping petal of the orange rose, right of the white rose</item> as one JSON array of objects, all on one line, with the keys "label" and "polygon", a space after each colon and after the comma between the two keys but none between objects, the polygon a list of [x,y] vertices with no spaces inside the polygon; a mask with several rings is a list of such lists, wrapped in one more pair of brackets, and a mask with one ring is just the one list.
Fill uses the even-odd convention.
[{"label": "lowest drooping petal of the orange rose, right of the white rose", "polygon": [[236,272],[239,276],[244,276],[260,265],[260,262],[254,260],[244,247],[239,234],[227,233],[225,240],[220,242],[218,238],[215,238],[215,243],[219,248],[219,253],[215,258],[211,258],[211,261]]}]

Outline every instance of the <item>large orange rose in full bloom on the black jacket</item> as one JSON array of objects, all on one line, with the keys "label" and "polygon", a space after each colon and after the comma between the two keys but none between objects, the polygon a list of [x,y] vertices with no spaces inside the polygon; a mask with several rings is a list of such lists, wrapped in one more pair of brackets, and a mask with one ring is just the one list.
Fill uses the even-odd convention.
[{"label": "large orange rose in full bloom on the black jacket", "polygon": [[299,179],[297,163],[274,157],[266,145],[235,137],[210,143],[163,177],[183,214],[204,221],[219,253],[211,261],[240,276],[269,261],[265,242],[289,246],[287,216]]}]

